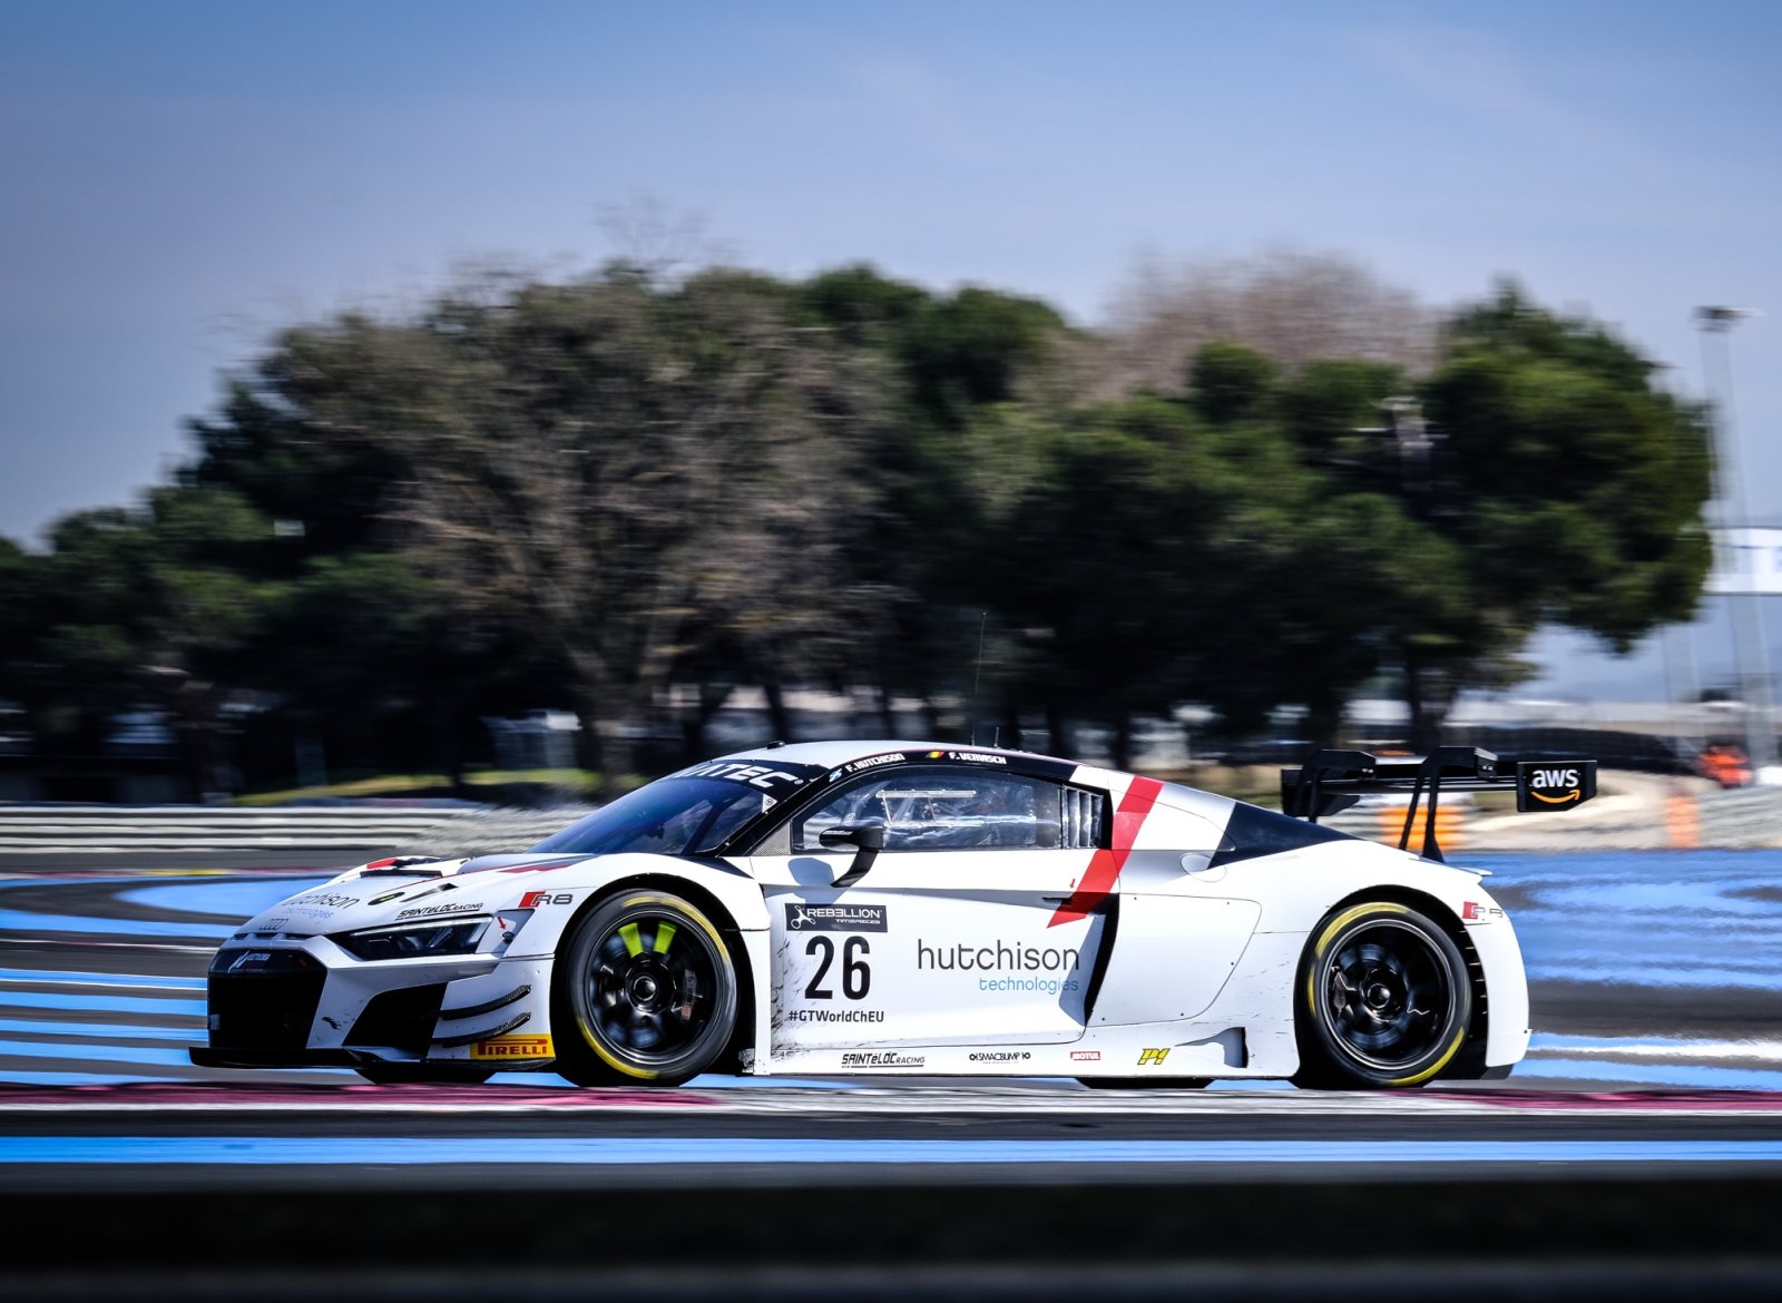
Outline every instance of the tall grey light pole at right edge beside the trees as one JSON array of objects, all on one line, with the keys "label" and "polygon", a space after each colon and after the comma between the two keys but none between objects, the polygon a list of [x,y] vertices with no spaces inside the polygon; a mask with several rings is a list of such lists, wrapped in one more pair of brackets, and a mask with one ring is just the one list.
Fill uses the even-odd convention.
[{"label": "tall grey light pole at right edge beside the trees", "polygon": [[[1732,529],[1750,524],[1745,513],[1745,476],[1737,447],[1737,428],[1732,421],[1732,348],[1727,333],[1745,317],[1759,316],[1753,308],[1707,307],[1695,310],[1702,328],[1702,381],[1714,408],[1714,485],[1720,499],[1720,533],[1714,545],[1714,563],[1723,574],[1732,574]],[[1711,342],[1718,340],[1718,348]],[[1764,642],[1764,610],[1755,585],[1732,597],[1732,652],[1739,674],[1739,695],[1745,699],[1745,750],[1752,761],[1752,775],[1775,765],[1775,722],[1770,711],[1770,649]]]}]

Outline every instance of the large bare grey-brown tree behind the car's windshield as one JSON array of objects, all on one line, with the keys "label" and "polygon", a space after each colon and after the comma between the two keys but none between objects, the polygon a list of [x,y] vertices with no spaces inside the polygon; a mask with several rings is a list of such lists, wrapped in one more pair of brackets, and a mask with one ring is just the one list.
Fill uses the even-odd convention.
[{"label": "large bare grey-brown tree behind the car's windshield", "polygon": [[777,701],[850,638],[832,560],[877,389],[784,299],[629,267],[447,298],[337,332],[333,380],[305,396],[307,421],[401,467],[381,513],[453,619],[520,620],[567,667],[609,777],[677,668],[729,656]]}]

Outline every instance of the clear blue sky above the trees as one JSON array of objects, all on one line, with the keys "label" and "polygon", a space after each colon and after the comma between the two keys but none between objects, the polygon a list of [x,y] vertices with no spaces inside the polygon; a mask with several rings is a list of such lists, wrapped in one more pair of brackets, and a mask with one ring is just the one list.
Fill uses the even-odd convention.
[{"label": "clear blue sky above the trees", "polygon": [[1336,251],[1438,305],[1509,275],[1689,394],[1691,308],[1770,308],[1732,367],[1782,522],[1778,52],[1782,5],[1725,0],[0,0],[0,535],[160,478],[280,324],[586,269],[640,198],[693,253],[1083,324],[1146,257]]}]

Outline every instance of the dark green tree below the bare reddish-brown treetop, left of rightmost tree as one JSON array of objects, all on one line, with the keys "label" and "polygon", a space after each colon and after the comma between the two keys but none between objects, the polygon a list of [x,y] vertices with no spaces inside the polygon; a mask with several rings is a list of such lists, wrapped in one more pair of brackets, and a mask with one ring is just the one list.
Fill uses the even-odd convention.
[{"label": "dark green tree below the bare reddish-brown treetop, left of rightmost tree", "polygon": [[1278,422],[1201,410],[1140,397],[1055,426],[1000,415],[1021,451],[1005,462],[1026,472],[985,508],[1001,565],[984,599],[1018,631],[1016,692],[1044,708],[1055,745],[1064,720],[1089,718],[1123,765],[1133,717],[1183,701],[1240,733],[1304,702],[1335,736],[1345,692],[1379,667],[1354,611],[1406,583],[1390,544],[1410,522],[1301,463]]}]

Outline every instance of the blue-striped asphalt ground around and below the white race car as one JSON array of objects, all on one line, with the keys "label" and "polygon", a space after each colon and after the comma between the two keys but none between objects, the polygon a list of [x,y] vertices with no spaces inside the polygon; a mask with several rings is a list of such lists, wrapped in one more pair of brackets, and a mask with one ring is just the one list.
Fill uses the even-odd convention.
[{"label": "blue-striped asphalt ground around and below the white race car", "polygon": [[0,865],[0,1296],[1782,1291],[1777,854],[1483,861],[1534,1052],[1406,1094],[198,1069],[260,859]]}]

